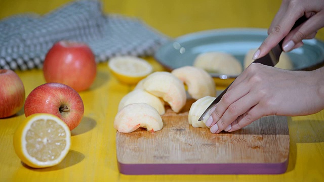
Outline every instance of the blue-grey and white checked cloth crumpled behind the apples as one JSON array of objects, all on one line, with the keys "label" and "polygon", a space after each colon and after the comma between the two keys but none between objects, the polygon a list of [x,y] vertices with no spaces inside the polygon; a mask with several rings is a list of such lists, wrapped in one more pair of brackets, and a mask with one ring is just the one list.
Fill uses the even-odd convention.
[{"label": "blue-grey and white checked cloth crumpled behind the apples", "polygon": [[136,18],[103,14],[98,1],[76,1],[44,16],[0,21],[0,69],[42,68],[59,40],[86,42],[97,62],[120,55],[152,56],[168,37]]}]

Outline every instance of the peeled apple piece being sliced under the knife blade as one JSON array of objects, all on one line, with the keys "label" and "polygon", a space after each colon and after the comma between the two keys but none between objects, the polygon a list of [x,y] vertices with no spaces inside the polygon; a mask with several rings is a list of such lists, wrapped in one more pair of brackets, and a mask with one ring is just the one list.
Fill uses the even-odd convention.
[{"label": "peeled apple piece being sliced under the knife blade", "polygon": [[208,106],[211,105],[215,99],[216,99],[215,97],[206,96],[206,97],[198,99],[196,102],[194,102],[191,105],[189,114],[188,114],[189,124],[191,124],[193,127],[207,128],[205,123],[211,114],[207,113],[204,116],[203,121],[198,122],[198,119],[200,118],[201,114],[203,114],[205,112],[205,110],[208,108]]}]

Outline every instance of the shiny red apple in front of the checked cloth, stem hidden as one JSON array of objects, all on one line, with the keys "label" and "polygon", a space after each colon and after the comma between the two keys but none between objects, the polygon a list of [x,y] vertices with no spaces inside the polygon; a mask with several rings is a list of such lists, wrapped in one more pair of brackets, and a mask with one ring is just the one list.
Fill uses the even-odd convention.
[{"label": "shiny red apple in front of the checked cloth, stem hidden", "polygon": [[82,91],[95,80],[97,64],[86,43],[62,40],[47,53],[43,71],[46,82],[63,83]]}]

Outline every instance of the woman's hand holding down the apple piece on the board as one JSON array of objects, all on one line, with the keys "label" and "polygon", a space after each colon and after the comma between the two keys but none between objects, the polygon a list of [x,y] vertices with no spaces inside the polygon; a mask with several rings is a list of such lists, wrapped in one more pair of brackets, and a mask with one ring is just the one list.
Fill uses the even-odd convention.
[{"label": "woman's hand holding down the apple piece on the board", "polygon": [[289,71],[252,63],[228,88],[206,125],[235,131],[268,115],[300,116],[324,108],[324,67]]}]

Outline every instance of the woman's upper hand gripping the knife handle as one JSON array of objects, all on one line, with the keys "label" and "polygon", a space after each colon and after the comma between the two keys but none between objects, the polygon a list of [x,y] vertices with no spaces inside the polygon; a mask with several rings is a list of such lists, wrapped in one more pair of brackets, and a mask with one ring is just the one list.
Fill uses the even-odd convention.
[{"label": "woman's upper hand gripping the knife handle", "polygon": [[[306,16],[308,20],[290,31],[302,16]],[[286,38],[282,43],[282,49],[285,52],[299,48],[303,45],[303,39],[314,38],[317,30],[322,27],[324,27],[324,0],[283,0],[268,30],[269,36],[263,41],[253,59],[265,56],[284,37]]]}]

